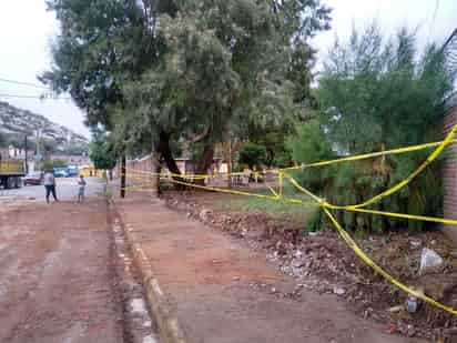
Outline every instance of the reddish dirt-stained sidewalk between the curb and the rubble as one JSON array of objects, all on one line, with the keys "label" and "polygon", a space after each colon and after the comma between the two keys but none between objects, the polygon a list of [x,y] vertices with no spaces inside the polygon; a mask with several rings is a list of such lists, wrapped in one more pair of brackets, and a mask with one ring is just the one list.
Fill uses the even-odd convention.
[{"label": "reddish dirt-stained sidewalk between the curb and the rubble", "polygon": [[161,201],[116,200],[133,243],[140,243],[189,343],[423,342],[383,334],[336,296],[283,294],[292,279],[244,241],[204,226]]}]

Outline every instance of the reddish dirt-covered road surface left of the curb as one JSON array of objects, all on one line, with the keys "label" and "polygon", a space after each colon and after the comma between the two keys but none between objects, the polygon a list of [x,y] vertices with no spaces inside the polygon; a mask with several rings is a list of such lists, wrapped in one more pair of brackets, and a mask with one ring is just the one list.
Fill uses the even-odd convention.
[{"label": "reddish dirt-covered road surface left of the curb", "polygon": [[0,204],[0,342],[123,342],[103,200]]}]

